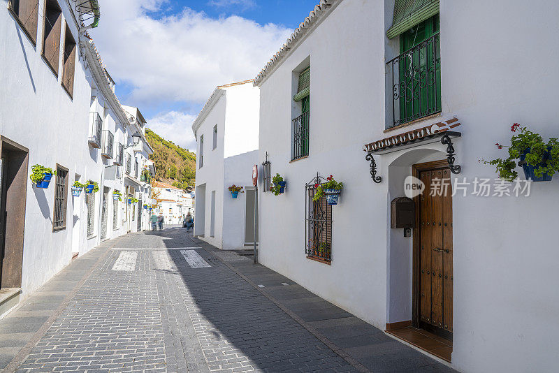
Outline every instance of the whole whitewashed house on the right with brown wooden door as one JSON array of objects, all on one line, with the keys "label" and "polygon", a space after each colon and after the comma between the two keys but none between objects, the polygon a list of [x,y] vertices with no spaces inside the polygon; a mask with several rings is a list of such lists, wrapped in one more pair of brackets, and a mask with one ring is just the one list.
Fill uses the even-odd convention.
[{"label": "whole whitewashed house on the right with brown wooden door", "polygon": [[[479,159],[515,122],[558,137],[558,15],[551,0],[322,0],[254,82],[259,163],[287,183],[260,189],[259,261],[378,328],[452,341],[431,353],[461,372],[556,371],[559,177],[500,196]],[[338,205],[310,198],[328,175]],[[409,175],[460,189],[393,207]],[[391,228],[411,217],[411,234]]]}]

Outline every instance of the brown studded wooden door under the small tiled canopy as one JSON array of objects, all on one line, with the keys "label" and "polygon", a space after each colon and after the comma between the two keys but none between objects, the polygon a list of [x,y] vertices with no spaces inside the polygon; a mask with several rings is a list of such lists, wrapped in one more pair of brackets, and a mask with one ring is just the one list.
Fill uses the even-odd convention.
[{"label": "brown studded wooden door under the small tiled canopy", "polygon": [[[419,179],[426,189],[416,201],[418,234],[415,266],[419,327],[441,337],[452,337],[452,186],[447,167],[420,169]],[[428,165],[427,165],[428,166]]]}]

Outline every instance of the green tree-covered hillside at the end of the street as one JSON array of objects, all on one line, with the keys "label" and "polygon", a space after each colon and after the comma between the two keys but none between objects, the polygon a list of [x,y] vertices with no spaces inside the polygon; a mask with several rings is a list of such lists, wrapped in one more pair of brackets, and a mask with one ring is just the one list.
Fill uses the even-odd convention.
[{"label": "green tree-covered hillside at the end of the street", "polygon": [[145,129],[145,136],[154,149],[150,159],[155,163],[157,181],[185,190],[193,189],[196,154],[165,140],[150,129]]}]

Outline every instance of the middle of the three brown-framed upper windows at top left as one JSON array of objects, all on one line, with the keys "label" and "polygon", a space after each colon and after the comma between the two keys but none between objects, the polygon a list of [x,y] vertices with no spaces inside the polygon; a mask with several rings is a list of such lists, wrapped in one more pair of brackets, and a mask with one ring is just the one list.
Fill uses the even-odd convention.
[{"label": "middle of the three brown-framed upper windows at top left", "polygon": [[52,72],[58,76],[60,58],[60,31],[62,11],[56,0],[47,0],[45,7],[45,28],[43,29],[43,57]]}]

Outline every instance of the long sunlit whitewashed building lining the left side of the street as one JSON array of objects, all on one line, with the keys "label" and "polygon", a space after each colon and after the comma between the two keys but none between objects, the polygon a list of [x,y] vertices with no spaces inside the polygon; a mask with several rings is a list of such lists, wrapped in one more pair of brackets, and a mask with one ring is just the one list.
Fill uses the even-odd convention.
[{"label": "long sunlit whitewashed building lining the left side of the street", "polygon": [[[112,191],[124,190],[117,164],[139,129],[85,33],[98,23],[96,2],[76,9],[75,1],[20,0],[0,9],[0,316],[73,257],[126,233]],[[57,171],[47,189],[29,180],[36,164]],[[73,197],[72,184],[87,180],[99,192]]]}]

